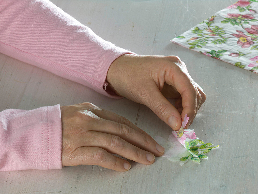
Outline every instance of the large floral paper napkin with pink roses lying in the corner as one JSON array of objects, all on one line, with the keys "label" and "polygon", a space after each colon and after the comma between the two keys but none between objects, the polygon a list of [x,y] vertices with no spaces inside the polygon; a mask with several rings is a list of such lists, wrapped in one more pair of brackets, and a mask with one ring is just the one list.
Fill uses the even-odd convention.
[{"label": "large floral paper napkin with pink roses lying in the corner", "polygon": [[257,0],[240,0],[171,41],[258,74],[257,12]]}]

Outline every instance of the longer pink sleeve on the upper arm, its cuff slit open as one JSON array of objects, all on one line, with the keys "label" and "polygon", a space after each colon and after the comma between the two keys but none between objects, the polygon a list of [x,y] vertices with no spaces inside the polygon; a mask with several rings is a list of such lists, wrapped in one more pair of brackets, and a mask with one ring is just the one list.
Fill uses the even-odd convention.
[{"label": "longer pink sleeve on the upper arm, its cuff slit open", "polygon": [[0,52],[105,91],[111,63],[126,53],[48,0],[0,0]]}]

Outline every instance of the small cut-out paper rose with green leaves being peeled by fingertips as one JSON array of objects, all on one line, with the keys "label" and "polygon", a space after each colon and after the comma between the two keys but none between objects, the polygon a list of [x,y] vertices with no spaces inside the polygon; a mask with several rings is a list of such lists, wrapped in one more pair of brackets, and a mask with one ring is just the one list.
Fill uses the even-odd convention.
[{"label": "small cut-out paper rose with green leaves being peeled by fingertips", "polygon": [[206,153],[213,148],[219,147],[219,145],[212,146],[212,143],[205,144],[199,140],[193,129],[184,129],[188,120],[189,117],[185,115],[181,128],[178,131],[172,131],[168,141],[160,136],[155,137],[155,141],[165,148],[165,153],[162,157],[166,157],[171,161],[180,161],[181,166],[189,159],[200,163],[200,159],[208,159],[205,155]]}]

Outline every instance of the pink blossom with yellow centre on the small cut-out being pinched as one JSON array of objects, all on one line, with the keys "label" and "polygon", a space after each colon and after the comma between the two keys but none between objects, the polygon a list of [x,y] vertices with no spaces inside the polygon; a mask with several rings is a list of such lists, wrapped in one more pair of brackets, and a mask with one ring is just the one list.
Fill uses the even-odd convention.
[{"label": "pink blossom with yellow centre on the small cut-out being pinched", "polygon": [[184,121],[182,122],[182,126],[178,131],[172,131],[172,134],[175,136],[175,138],[178,139],[178,141],[185,146],[186,144],[186,138],[188,139],[196,139],[196,135],[194,130],[192,129],[184,129],[186,127],[186,124],[189,120],[189,117],[187,117],[187,114],[184,116]]}]

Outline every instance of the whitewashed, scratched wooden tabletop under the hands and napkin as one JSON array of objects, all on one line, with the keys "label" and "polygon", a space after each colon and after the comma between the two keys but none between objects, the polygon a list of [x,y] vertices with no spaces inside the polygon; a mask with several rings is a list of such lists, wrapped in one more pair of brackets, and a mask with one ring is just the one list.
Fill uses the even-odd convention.
[{"label": "whitewashed, scratched wooden tabletop under the hands and napkin", "polygon": [[[133,161],[127,172],[99,166],[0,172],[0,193],[258,193],[258,76],[170,40],[231,0],[52,0],[103,39],[140,55],[176,55],[207,95],[190,129],[220,148],[184,166],[163,157]],[[91,102],[122,115],[152,137],[171,129],[146,106],[111,99],[38,67],[0,54],[0,111]]]}]

